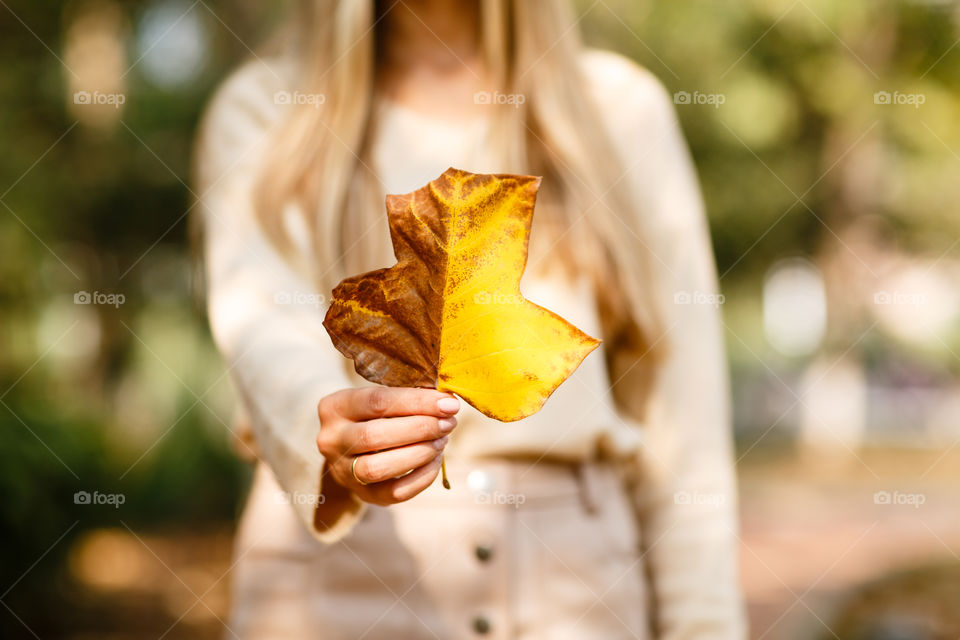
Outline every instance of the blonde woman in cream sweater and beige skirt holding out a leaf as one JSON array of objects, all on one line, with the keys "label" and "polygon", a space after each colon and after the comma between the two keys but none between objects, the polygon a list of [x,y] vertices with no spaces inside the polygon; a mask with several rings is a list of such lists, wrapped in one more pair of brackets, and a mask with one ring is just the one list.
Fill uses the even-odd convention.
[{"label": "blonde woman in cream sweater and beige skirt holding out a leaf", "polygon": [[[696,179],[664,89],[583,50],[574,18],[318,0],[213,100],[209,315],[258,458],[236,636],[745,634]],[[521,422],[373,387],[321,326],[340,279],[393,264],[384,195],[449,166],[544,177],[524,294],[604,339]]]}]

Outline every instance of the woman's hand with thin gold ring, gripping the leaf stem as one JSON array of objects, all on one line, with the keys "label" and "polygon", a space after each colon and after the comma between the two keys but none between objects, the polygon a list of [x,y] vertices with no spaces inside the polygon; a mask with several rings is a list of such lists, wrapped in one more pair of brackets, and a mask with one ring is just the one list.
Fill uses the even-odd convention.
[{"label": "woman's hand with thin gold ring, gripping the leaf stem", "polygon": [[433,389],[344,389],[317,405],[317,447],[333,479],[365,502],[403,502],[437,477],[459,409]]}]

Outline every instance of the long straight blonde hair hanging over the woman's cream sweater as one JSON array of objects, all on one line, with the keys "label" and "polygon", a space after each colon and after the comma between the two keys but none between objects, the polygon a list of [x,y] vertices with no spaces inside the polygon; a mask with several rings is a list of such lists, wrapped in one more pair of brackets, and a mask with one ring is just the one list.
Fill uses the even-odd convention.
[{"label": "long straight blonde hair hanging over the woman's cream sweater", "polygon": [[[387,266],[384,193],[370,168],[377,51],[383,7],[374,0],[312,0],[297,16],[302,90],[326,96],[317,108],[294,105],[278,130],[256,188],[257,216],[287,255],[283,218],[298,205],[312,234],[314,277],[324,291],[343,277]],[[654,364],[665,341],[639,204],[604,134],[579,72],[582,50],[564,0],[481,0],[485,62],[519,108],[495,109],[493,131],[503,173],[543,175],[534,216],[531,264],[571,255],[591,274],[608,347]],[[612,98],[612,97],[611,97]],[[469,167],[464,167],[469,168]],[[420,185],[411,185],[411,189]],[[581,219],[586,223],[570,231]],[[557,251],[561,247],[564,251]]]}]

